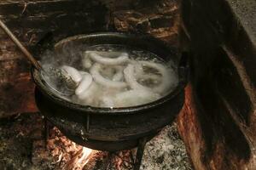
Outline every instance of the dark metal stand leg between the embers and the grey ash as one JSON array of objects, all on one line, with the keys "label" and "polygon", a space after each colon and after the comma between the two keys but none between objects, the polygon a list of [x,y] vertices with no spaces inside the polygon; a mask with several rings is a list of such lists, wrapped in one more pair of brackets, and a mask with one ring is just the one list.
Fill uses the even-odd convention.
[{"label": "dark metal stand leg between the embers and the grey ash", "polygon": [[144,137],[143,139],[139,139],[138,146],[137,146],[136,160],[134,163],[134,170],[139,170],[141,167],[141,163],[143,161],[144,148],[147,141],[148,141],[147,137]]}]

